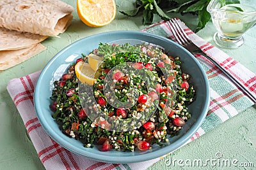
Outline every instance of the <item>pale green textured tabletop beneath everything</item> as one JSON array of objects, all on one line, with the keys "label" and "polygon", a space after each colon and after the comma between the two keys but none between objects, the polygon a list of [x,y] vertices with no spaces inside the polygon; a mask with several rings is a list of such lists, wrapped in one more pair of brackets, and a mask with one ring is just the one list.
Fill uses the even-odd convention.
[{"label": "pale green textured tabletop beneath everything", "polygon": [[[76,9],[76,1],[67,1]],[[119,0],[116,3],[122,6],[125,1]],[[191,29],[197,24],[195,16],[191,15],[174,15],[170,17],[180,17]],[[155,17],[154,22],[161,20]],[[74,20],[68,30],[61,34],[61,38],[48,38],[43,42],[47,50],[36,55],[35,57],[7,69],[0,73],[0,169],[44,169],[40,162],[35,148],[29,140],[26,129],[20,118],[19,112],[15,108],[11,97],[9,96],[6,85],[12,78],[25,76],[42,69],[45,64],[62,48],[70,43],[100,32],[117,31],[117,30],[141,30],[144,26],[141,22],[141,16],[129,18],[118,13],[111,24],[105,27],[91,28],[84,25],[77,17],[74,11]],[[209,22],[206,27],[197,34],[212,42],[212,35],[216,29]],[[248,67],[256,73],[256,27],[244,35],[245,43],[236,50],[223,49],[224,52],[232,56],[238,62]],[[216,129],[204,134],[204,136],[183,146],[161,161],[157,162],[149,169],[256,169],[256,106],[252,106],[240,113],[236,117],[227,120]],[[178,163],[178,160],[202,160],[216,159],[216,153],[221,153],[223,159],[237,160],[237,165],[244,163],[244,166],[211,166],[209,163],[206,167],[186,166]],[[170,165],[170,160],[177,160]],[[252,164],[249,164],[249,163]],[[214,165],[214,163],[212,163]],[[182,166],[184,165],[184,166]]]}]

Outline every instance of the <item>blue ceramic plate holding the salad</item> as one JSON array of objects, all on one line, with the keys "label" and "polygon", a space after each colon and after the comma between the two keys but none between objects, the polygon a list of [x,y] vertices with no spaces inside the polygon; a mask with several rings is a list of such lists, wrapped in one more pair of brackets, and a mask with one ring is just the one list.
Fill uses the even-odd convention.
[{"label": "blue ceramic plate holding the salad", "polygon": [[[179,56],[182,61],[182,69],[184,73],[191,75],[193,87],[196,90],[196,99],[189,106],[191,118],[180,131],[179,136],[169,138],[170,145],[159,147],[154,145],[151,150],[144,152],[118,152],[111,150],[109,152],[100,152],[99,147],[84,148],[83,143],[76,139],[69,138],[63,134],[58,127],[58,124],[52,118],[52,111],[49,106],[51,104],[51,93],[53,89],[53,82],[59,80],[61,75],[67,70],[68,66],[74,62],[75,59],[81,56],[81,53],[87,54],[99,46],[99,43],[125,43],[132,44],[147,41],[156,45],[163,46],[166,52],[172,56]],[[202,124],[209,107],[209,83],[204,73],[204,69],[200,66],[198,60],[191,55],[182,46],[177,45],[170,39],[163,38],[154,34],[148,34],[138,31],[114,31],[106,32],[89,36],[71,45],[57,53],[49,63],[44,67],[40,74],[35,88],[35,110],[42,127],[45,132],[51,136],[54,141],[59,143],[67,150],[89,157],[91,159],[100,160],[103,162],[113,163],[130,163],[141,162],[145,160],[155,159],[166,153],[173,152],[186,141],[188,141],[196,130]]]}]

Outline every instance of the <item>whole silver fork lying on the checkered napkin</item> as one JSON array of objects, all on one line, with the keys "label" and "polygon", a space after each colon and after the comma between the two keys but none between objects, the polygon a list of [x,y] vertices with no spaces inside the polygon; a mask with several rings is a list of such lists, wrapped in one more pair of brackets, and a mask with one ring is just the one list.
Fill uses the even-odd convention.
[{"label": "whole silver fork lying on the checkered napkin", "polygon": [[173,36],[177,40],[177,42],[186,48],[192,54],[200,54],[210,60],[215,66],[217,66],[222,73],[224,73],[237,87],[239,87],[244,94],[246,94],[255,104],[256,97],[250,92],[250,90],[246,89],[239,81],[236,80],[227,70],[223,69],[223,67],[216,62],[216,60],[212,59],[207,53],[204,53],[198,46],[196,46],[191,39],[188,37],[186,32],[182,29],[179,22],[177,22],[176,18],[172,18],[169,22],[167,22],[168,26],[170,27],[171,31],[173,32]]}]

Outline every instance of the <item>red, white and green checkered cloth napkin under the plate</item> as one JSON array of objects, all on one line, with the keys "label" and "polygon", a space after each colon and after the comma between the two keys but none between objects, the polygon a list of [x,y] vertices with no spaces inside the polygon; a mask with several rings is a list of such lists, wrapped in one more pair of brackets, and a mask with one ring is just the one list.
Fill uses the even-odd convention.
[{"label": "red, white and green checkered cloth napkin under the plate", "polygon": [[[196,45],[200,46],[204,52],[214,56],[214,59],[234,75],[237,80],[241,81],[245,87],[248,87],[252,92],[256,92],[256,75],[254,73],[237,63],[236,60],[228,57],[226,53],[221,52],[218,48],[198,37],[194,32],[188,29],[184,23],[181,24]],[[159,34],[171,39],[173,38],[172,32],[168,28],[168,25],[166,25],[166,22],[153,24],[150,28],[144,29],[143,31]],[[205,73],[209,78],[211,103],[204,123],[187,143],[202,136],[202,134],[221,124],[228,118],[234,117],[237,113],[253,105],[252,101],[227,80],[217,67],[212,66],[212,64],[201,55],[197,55],[196,57],[204,67]],[[36,117],[33,106],[33,92],[39,74],[40,72],[36,72],[10,80],[7,89],[17,110],[19,110],[31,141],[36,148],[38,157],[46,169],[147,169],[147,167],[161,159],[157,158],[148,160],[147,162],[133,164],[109,164],[81,157],[80,155],[76,155],[62,148],[58,143],[49,138]]]}]

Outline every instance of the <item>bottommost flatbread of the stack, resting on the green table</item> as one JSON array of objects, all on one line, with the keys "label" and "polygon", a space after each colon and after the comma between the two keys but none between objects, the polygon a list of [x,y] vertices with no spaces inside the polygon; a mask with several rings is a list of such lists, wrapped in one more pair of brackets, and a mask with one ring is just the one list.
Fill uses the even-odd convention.
[{"label": "bottommost flatbread of the stack, resting on the green table", "polygon": [[0,51],[0,71],[13,67],[34,55],[44,51],[46,48],[40,43],[30,46],[28,48],[22,48],[19,50]]}]

